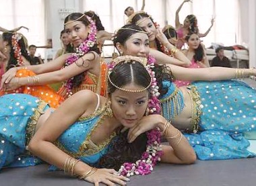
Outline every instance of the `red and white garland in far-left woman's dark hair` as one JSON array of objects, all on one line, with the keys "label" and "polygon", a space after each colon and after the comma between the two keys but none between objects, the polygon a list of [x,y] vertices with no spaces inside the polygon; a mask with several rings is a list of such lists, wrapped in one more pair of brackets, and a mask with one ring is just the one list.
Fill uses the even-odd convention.
[{"label": "red and white garland in far-left woman's dark hair", "polygon": [[13,33],[11,36],[11,46],[13,47],[14,57],[16,58],[18,66],[24,66],[22,60],[22,49],[20,48],[19,41],[22,39],[22,36],[18,33]]}]

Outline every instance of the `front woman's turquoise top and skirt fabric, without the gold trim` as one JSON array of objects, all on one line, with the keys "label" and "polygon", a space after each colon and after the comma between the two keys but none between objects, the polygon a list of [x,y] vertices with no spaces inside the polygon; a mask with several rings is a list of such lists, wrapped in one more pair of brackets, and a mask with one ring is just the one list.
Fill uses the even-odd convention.
[{"label": "front woman's turquoise top and skirt fabric, without the gold trim", "polygon": [[[2,167],[27,167],[42,162],[26,151],[26,126],[30,116],[38,107],[36,97],[26,94],[8,94],[0,97],[0,169]],[[46,108],[49,108],[47,105]],[[46,109],[45,108],[45,109]],[[89,132],[96,126],[102,113],[92,115],[88,120],[81,120],[71,125],[58,138],[59,144],[73,154],[77,153],[79,146],[86,140]],[[108,144],[94,154],[77,156],[80,160],[94,165],[106,153]],[[51,170],[54,170],[51,167]]]}]

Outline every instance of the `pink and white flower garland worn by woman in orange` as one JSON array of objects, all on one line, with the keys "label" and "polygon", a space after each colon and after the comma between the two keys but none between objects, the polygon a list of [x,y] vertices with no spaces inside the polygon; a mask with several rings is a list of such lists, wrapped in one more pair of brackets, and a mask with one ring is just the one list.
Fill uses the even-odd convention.
[{"label": "pink and white flower garland worn by woman in orange", "polygon": [[[70,64],[73,64],[73,62],[78,60],[78,58],[80,58],[81,56],[84,56],[84,54],[86,54],[90,50],[90,48],[92,48],[94,46],[94,44],[96,44],[96,33],[97,33],[96,24],[91,19],[91,17],[86,15],[86,18],[90,22],[89,35],[86,38],[86,40],[84,40],[84,42],[82,42],[82,44],[80,44],[77,48],[75,48],[75,53],[73,53],[71,56],[69,56],[67,58],[67,60],[65,61],[65,64],[64,64],[64,68],[69,66]],[[68,97],[73,94],[72,93],[73,79],[74,79],[74,77],[71,77],[64,83],[64,87],[67,89]]]}]

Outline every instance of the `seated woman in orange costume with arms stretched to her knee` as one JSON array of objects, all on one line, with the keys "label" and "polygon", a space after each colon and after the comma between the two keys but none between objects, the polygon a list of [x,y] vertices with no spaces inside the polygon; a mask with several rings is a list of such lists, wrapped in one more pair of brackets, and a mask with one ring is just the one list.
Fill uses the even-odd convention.
[{"label": "seated woman in orange costume with arms stretched to her knee", "polygon": [[[51,107],[58,107],[64,99],[83,89],[106,95],[107,66],[100,62],[94,21],[84,13],[71,13],[65,18],[64,26],[76,48],[75,53],[25,69],[11,68],[2,76],[0,89],[4,93],[22,87],[24,93],[43,99]],[[56,93],[47,85],[57,82],[63,85]]]}]

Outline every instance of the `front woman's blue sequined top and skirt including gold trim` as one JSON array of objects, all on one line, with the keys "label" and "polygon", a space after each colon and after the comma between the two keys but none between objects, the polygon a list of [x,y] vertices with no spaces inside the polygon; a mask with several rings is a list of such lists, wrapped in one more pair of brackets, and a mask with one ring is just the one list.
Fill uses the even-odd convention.
[{"label": "front woman's blue sequined top and skirt including gold trim", "polygon": [[[26,94],[9,94],[0,97],[0,169],[2,167],[27,167],[42,160],[32,156],[26,145],[34,135],[38,118],[49,108],[44,101]],[[114,138],[96,146],[90,140],[94,129],[106,115],[106,106],[86,118],[79,118],[55,142],[67,154],[94,165],[106,153]]]}]

